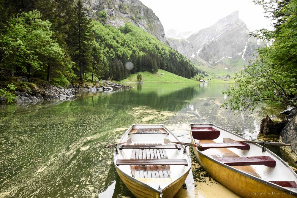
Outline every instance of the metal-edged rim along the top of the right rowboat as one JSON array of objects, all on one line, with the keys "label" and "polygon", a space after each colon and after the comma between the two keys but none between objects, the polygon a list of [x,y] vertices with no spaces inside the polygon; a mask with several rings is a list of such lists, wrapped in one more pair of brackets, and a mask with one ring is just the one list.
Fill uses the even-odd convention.
[{"label": "metal-edged rim along the top of the right rowboat", "polygon": [[[207,123],[207,124],[195,124],[195,123],[193,123],[193,124],[190,124],[191,140],[193,140],[193,137],[192,137],[192,131],[191,131],[191,125],[213,125],[213,126],[219,128],[219,129],[225,130],[225,129],[223,129],[223,128],[221,128],[221,127],[218,127],[218,126],[216,126],[216,125],[214,125],[214,124],[208,124],[208,123]],[[228,131],[228,130],[225,130],[225,131],[230,132],[230,131]],[[235,133],[233,133],[233,132],[230,132],[230,133],[235,134]],[[245,139],[245,140],[247,140],[246,138],[244,138],[244,137],[242,137],[242,136],[239,136],[238,134],[235,134],[235,135],[238,136],[238,137],[241,137],[241,138],[243,138],[243,139]],[[257,144],[257,146],[262,148],[262,146],[260,146],[260,145],[258,145],[258,144]],[[227,168],[227,169],[229,169],[229,170],[232,170],[232,171],[234,171],[234,172],[237,172],[237,173],[239,173],[239,174],[241,174],[241,175],[244,175],[244,176],[246,176],[246,177],[249,177],[249,178],[251,178],[251,179],[253,179],[253,180],[259,181],[259,182],[261,182],[261,183],[263,183],[263,184],[266,184],[266,185],[271,186],[271,187],[273,187],[273,188],[279,189],[279,190],[281,190],[281,191],[288,192],[288,193],[293,193],[294,196],[297,196],[297,193],[296,193],[295,191],[291,191],[290,189],[286,189],[286,188],[284,188],[284,187],[282,187],[282,186],[278,186],[278,185],[276,185],[276,184],[274,184],[274,183],[271,183],[271,182],[269,182],[269,181],[263,180],[263,179],[261,179],[261,178],[257,178],[257,177],[255,177],[255,176],[253,176],[253,175],[250,175],[250,174],[246,173],[246,172],[242,172],[241,170],[237,170],[237,169],[235,169],[235,168],[233,168],[233,167],[231,167],[231,166],[229,166],[229,165],[223,164],[223,163],[221,163],[221,162],[219,162],[219,161],[217,161],[217,160],[215,160],[215,159],[209,157],[208,155],[206,155],[206,154],[202,153],[201,151],[199,151],[198,148],[195,148],[195,149],[198,151],[198,153],[199,153],[200,155],[202,155],[202,156],[206,157],[207,159],[209,159],[209,160],[211,160],[211,161],[213,161],[213,162],[215,162],[215,163],[221,165],[222,167],[225,167],[225,168]],[[266,149],[266,151],[269,151],[269,150]],[[272,153],[271,151],[269,151],[269,153],[274,154],[274,153]],[[275,154],[274,154],[274,155],[275,155]],[[278,157],[278,156],[277,156],[277,157]],[[278,157],[278,158],[279,158],[279,157]],[[293,170],[292,170],[292,171],[293,171]],[[296,176],[296,173],[295,173],[295,172],[294,172],[294,175]]]}]

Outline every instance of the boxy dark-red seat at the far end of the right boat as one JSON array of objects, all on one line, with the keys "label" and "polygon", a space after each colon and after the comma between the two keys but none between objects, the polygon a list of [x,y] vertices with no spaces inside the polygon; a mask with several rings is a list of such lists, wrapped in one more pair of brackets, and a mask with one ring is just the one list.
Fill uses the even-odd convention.
[{"label": "boxy dark-red seat at the far end of the right boat", "polygon": [[214,140],[220,136],[220,131],[213,127],[191,127],[191,133],[196,140]]}]

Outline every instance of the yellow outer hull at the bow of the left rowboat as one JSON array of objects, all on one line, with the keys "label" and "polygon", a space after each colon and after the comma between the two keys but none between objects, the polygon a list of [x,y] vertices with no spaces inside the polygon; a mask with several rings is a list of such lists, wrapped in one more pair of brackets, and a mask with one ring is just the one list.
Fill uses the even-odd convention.
[{"label": "yellow outer hull at the bow of the left rowboat", "polygon": [[[131,191],[135,197],[137,197],[137,198],[159,198],[160,197],[159,192],[154,191],[153,189],[150,189],[146,186],[143,186],[143,185],[141,185],[141,183],[139,183],[135,180],[132,180],[131,178],[129,178],[129,176],[124,174],[117,167],[116,167],[116,171],[118,172],[121,180],[127,186],[129,191]],[[178,192],[178,190],[184,184],[188,174],[189,174],[189,170],[184,175],[182,175],[178,180],[174,181],[169,186],[167,186],[165,189],[163,189],[162,197],[164,197],[164,198],[174,197],[174,195]]]}]

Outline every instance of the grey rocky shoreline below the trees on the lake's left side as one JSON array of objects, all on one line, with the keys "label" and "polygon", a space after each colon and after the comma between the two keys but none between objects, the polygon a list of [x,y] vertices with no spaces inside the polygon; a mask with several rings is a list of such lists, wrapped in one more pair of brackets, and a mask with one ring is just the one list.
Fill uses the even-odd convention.
[{"label": "grey rocky shoreline below the trees on the lake's left side", "polygon": [[[15,91],[16,103],[42,103],[44,101],[60,101],[60,100],[73,100],[86,92],[101,92],[112,91],[119,89],[129,89],[129,85],[122,85],[119,83],[113,83],[107,80],[95,81],[95,83],[73,83],[65,86],[54,86],[47,82],[38,84],[30,92]],[[4,98],[0,98],[0,104],[6,103]]]}]

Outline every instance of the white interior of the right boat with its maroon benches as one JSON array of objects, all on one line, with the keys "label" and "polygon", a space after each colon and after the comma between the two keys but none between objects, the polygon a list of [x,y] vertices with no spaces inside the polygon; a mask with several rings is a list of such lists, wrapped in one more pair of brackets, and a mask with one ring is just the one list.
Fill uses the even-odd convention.
[{"label": "white interior of the right boat with its maroon benches", "polygon": [[[234,169],[297,191],[296,173],[278,156],[253,143],[223,142],[223,138],[246,140],[213,125],[192,124],[191,134],[198,151]],[[281,174],[280,174],[281,173]]]}]

